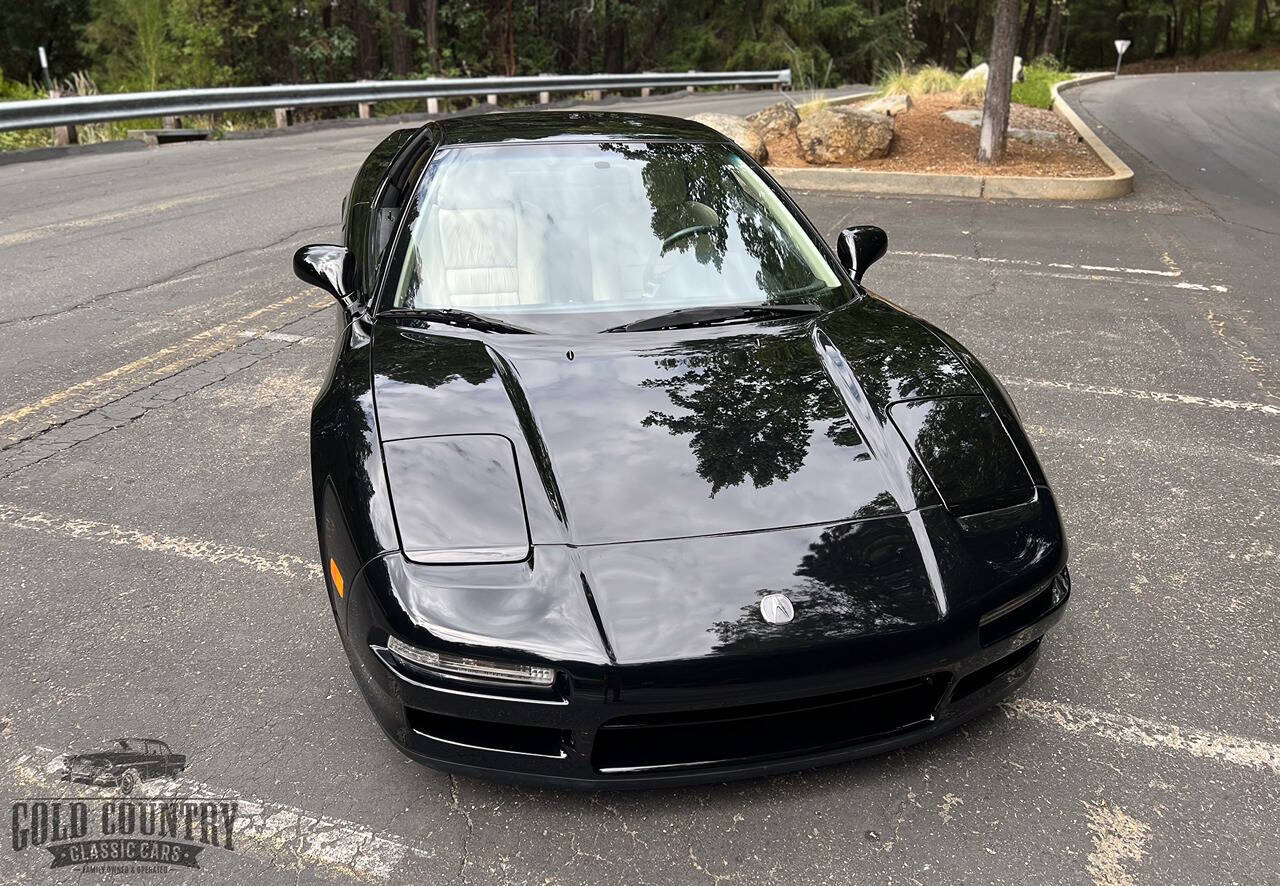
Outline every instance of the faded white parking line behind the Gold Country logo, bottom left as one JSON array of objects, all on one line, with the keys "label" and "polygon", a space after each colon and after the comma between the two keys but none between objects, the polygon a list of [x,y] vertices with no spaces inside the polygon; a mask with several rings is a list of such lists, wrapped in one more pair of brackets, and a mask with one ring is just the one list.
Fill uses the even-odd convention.
[{"label": "faded white parking line behind the Gold Country logo, bottom left", "polygon": [[[63,786],[45,775],[52,753],[23,754],[10,764],[19,784],[47,791]],[[118,798],[88,785],[74,786],[77,796]],[[388,881],[406,860],[435,858],[435,850],[415,846],[403,839],[389,837],[330,816],[320,816],[283,803],[243,796],[191,778],[154,778],[145,782],[146,798],[204,798],[236,801],[236,840],[253,855],[273,864],[296,868],[297,862],[310,862],[361,880]],[[143,799],[141,795],[132,799]],[[287,853],[280,858],[280,853]]]}]

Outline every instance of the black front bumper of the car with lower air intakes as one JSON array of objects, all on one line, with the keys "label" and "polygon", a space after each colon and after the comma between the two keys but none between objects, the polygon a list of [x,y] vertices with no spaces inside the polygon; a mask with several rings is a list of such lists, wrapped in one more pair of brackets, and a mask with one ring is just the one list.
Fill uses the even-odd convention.
[{"label": "black front bumper of the car with lower air intakes", "polygon": [[343,643],[375,718],[404,754],[485,778],[585,789],[771,775],[936,736],[1027,680],[1070,593],[1064,570],[1011,608],[927,629],[794,656],[559,663],[552,690],[520,690],[396,658],[383,645],[390,626],[379,595],[355,584]]}]

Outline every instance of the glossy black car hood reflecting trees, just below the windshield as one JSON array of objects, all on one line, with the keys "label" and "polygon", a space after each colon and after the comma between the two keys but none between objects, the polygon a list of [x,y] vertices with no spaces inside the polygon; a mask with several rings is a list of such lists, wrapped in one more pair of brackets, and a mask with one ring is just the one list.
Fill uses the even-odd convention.
[{"label": "glossy black car hood reflecting trees, just below the windshield", "polygon": [[[429,449],[411,443],[417,438],[457,443],[396,469],[397,511],[435,495],[430,510],[442,525],[484,535],[495,525],[509,530],[509,515],[476,515],[509,511],[522,490],[532,544],[902,513],[941,501],[938,478],[931,483],[922,462],[954,462],[947,453],[963,449],[975,420],[1010,448],[998,419],[980,415],[987,399],[956,352],[876,298],[817,320],[577,337],[381,321],[372,382],[389,469],[393,451]],[[893,424],[902,415],[895,403],[955,397],[972,398],[977,419],[974,410],[934,410],[945,426],[924,421],[923,437],[914,414],[902,430]],[[471,435],[506,438],[509,457]],[[468,458],[480,465],[475,483],[486,485],[472,484]],[[1020,472],[1015,485],[1030,487],[1016,455],[1010,470]],[[451,483],[461,493],[442,499]],[[467,488],[509,492],[467,501]]]}]

